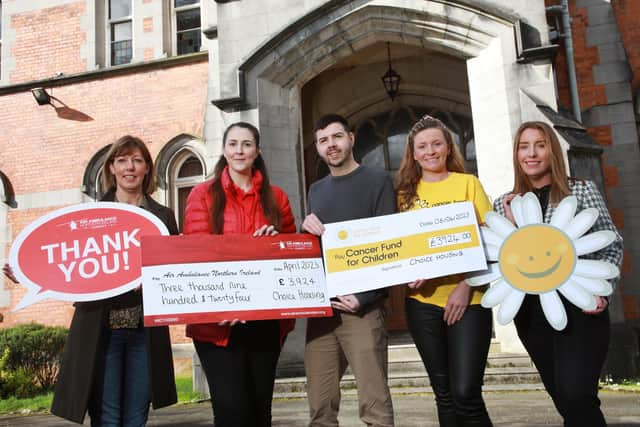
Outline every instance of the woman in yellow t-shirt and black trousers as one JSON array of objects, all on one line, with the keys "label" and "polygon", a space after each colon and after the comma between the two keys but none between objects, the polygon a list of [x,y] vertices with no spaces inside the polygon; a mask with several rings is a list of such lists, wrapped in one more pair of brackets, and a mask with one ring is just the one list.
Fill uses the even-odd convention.
[{"label": "woman in yellow t-shirt and black trousers", "polygon": [[[431,116],[409,131],[396,181],[400,211],[470,201],[482,223],[491,210],[480,181],[464,173],[451,132]],[[407,323],[436,395],[440,426],[491,426],[482,399],[491,342],[483,291],[470,288],[462,275],[407,286]]]}]

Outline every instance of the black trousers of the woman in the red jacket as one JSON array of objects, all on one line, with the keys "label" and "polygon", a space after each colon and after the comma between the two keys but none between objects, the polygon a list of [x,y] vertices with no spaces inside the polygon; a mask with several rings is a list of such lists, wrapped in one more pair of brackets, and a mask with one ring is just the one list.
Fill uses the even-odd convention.
[{"label": "black trousers of the woman in the red jacket", "polygon": [[215,427],[270,427],[280,356],[277,320],[238,324],[227,347],[194,341],[209,391]]}]

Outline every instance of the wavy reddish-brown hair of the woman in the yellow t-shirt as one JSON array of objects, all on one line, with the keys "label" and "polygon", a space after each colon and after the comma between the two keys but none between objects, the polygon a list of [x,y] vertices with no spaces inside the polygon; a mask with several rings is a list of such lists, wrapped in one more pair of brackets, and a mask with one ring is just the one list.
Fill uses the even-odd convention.
[{"label": "wavy reddish-brown hair of the woman in the yellow t-shirt", "polygon": [[418,183],[422,178],[422,168],[417,160],[413,158],[413,150],[416,135],[425,129],[440,129],[444,140],[449,147],[447,156],[447,171],[464,173],[464,159],[458,146],[453,142],[453,135],[447,126],[439,119],[429,115],[418,120],[407,135],[407,143],[404,147],[400,169],[396,175],[396,191],[398,192],[398,208],[406,210],[411,207],[417,197]]}]

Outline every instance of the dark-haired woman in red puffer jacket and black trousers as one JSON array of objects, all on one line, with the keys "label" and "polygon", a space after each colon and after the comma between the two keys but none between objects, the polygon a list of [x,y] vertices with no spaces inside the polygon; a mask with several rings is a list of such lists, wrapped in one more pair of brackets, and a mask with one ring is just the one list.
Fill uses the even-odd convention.
[{"label": "dark-haired woman in red puffer jacket and black trousers", "polygon": [[[187,199],[184,234],[272,236],[296,231],[287,195],[270,185],[255,126],[238,122],[223,136],[214,178]],[[187,326],[204,369],[216,427],[271,426],[275,370],[293,320]]]}]

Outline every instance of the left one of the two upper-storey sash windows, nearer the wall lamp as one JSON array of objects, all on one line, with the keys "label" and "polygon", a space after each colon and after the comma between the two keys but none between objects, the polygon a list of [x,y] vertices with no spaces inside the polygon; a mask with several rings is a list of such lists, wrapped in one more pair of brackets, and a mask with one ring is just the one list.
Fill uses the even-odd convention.
[{"label": "left one of the two upper-storey sash windows, nearer the wall lamp", "polygon": [[133,56],[131,0],[109,0],[111,65],[128,64]]}]

